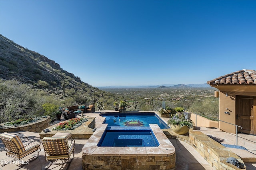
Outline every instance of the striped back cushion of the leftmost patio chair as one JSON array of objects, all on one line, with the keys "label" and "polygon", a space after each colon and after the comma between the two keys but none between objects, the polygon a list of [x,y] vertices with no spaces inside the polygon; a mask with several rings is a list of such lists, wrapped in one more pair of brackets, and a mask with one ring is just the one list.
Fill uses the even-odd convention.
[{"label": "striped back cushion of the leftmost patio chair", "polygon": [[[2,134],[0,135],[0,137],[3,138],[3,139],[10,140],[10,141],[13,142],[13,143],[12,143],[12,142],[10,142],[10,141],[9,141],[9,142],[6,141],[6,144],[8,145],[8,146],[6,146],[6,147],[7,147],[7,149],[8,149],[9,151],[12,151],[12,152],[16,153],[15,151],[16,151],[17,149],[16,149],[16,146],[15,146],[15,145],[17,145],[17,147],[18,147],[19,153],[22,153],[22,152],[25,151],[24,145],[23,145],[22,141],[20,140],[20,137],[18,137],[18,135],[4,132],[4,133],[2,133]],[[15,143],[15,145],[14,145],[14,143]]]}]

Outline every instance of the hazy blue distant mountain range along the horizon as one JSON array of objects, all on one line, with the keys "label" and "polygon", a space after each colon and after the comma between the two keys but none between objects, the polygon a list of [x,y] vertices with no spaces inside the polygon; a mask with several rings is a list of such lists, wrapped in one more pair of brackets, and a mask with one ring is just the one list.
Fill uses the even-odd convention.
[{"label": "hazy blue distant mountain range along the horizon", "polygon": [[207,83],[203,84],[161,84],[161,85],[145,85],[145,86],[98,86],[99,89],[104,88],[210,88]]}]

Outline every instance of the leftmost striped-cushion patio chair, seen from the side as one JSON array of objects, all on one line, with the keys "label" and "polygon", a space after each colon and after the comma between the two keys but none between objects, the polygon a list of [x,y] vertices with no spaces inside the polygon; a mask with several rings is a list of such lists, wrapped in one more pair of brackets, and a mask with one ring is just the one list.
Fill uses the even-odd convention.
[{"label": "leftmost striped-cushion patio chair, seen from the side", "polygon": [[[34,156],[34,159],[29,159],[28,161],[31,162],[35,160],[39,156],[39,152],[41,151],[40,141],[34,140],[23,142],[21,141],[20,137],[15,134],[4,132],[0,135],[0,139],[3,141],[5,149],[6,149],[6,156],[10,156],[15,160],[20,160],[34,152],[37,152],[37,156]],[[35,141],[38,141],[36,143]],[[5,165],[5,164],[4,164]],[[2,165],[2,166],[4,166]]]}]

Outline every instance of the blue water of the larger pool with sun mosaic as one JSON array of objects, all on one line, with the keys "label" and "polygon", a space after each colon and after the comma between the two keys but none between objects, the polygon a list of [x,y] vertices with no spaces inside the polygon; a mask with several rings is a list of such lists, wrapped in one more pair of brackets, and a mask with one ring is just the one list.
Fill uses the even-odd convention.
[{"label": "blue water of the larger pool with sun mosaic", "polygon": [[169,128],[155,113],[103,113],[100,115],[106,117],[103,123],[108,123],[108,126],[149,127],[149,124],[158,124],[161,129]]}]

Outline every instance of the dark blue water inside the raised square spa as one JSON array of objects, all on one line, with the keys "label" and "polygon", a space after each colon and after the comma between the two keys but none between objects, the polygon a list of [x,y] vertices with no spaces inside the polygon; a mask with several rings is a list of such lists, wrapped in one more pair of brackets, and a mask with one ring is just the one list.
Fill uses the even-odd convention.
[{"label": "dark blue water inside the raised square spa", "polygon": [[126,129],[107,127],[98,147],[158,147],[159,143],[150,127]]}]

